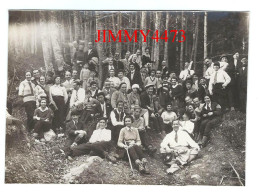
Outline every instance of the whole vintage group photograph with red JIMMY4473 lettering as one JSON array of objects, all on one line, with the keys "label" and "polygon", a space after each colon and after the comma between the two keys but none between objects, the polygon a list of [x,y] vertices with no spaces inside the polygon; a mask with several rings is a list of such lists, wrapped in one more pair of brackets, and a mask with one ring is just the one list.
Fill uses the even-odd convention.
[{"label": "whole vintage group photograph with red JIMMY4473 lettering", "polygon": [[245,186],[249,12],[9,10],[5,183]]}]

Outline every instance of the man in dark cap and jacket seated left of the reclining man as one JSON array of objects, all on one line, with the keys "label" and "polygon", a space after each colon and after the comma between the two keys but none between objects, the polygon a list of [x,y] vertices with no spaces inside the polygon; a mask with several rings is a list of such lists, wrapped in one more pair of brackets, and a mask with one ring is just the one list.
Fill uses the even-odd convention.
[{"label": "man in dark cap and jacket seated left of the reclining man", "polygon": [[78,121],[78,111],[72,111],[71,118],[72,120],[66,124],[67,139],[63,149],[67,156],[70,156],[72,147],[86,142],[86,131],[83,130],[83,124]]}]

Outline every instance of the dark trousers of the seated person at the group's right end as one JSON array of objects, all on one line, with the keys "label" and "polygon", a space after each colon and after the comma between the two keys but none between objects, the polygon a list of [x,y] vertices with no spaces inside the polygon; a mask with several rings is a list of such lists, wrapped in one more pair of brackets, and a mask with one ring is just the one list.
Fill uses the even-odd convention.
[{"label": "dark trousers of the seated person at the group's right end", "polygon": [[208,118],[203,119],[201,121],[200,125],[200,134],[201,136],[210,136],[210,131],[215,128],[218,124],[220,124],[221,118],[220,117],[214,117],[214,118]]}]

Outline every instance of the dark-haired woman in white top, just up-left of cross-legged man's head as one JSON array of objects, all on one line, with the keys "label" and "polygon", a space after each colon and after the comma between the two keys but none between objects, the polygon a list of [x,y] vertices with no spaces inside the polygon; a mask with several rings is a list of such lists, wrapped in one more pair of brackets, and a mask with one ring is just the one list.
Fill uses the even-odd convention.
[{"label": "dark-haired woman in white top, just up-left of cross-legged man's head", "polygon": [[172,122],[177,119],[177,115],[172,110],[172,104],[167,103],[166,110],[162,113],[161,118],[163,120],[163,133],[170,133],[172,129]]}]

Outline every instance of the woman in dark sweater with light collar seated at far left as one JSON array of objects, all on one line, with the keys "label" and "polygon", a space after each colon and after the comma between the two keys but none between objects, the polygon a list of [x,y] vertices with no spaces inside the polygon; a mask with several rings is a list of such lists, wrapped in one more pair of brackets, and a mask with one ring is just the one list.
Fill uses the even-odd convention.
[{"label": "woman in dark sweater with light collar seated at far left", "polygon": [[36,121],[34,125],[34,137],[44,142],[44,133],[49,131],[54,116],[53,111],[47,107],[47,100],[41,99],[40,107],[34,111],[33,119]]}]

